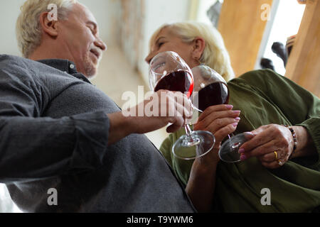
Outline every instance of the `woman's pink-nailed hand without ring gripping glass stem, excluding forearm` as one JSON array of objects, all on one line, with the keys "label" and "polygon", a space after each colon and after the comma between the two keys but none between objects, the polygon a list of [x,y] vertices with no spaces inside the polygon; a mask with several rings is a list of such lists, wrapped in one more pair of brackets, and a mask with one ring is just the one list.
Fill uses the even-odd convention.
[{"label": "woman's pink-nailed hand without ring gripping glass stem, excluding forearm", "polygon": [[[221,145],[221,141],[235,131],[240,121],[240,111],[233,111],[231,105],[216,105],[209,106],[201,116],[198,118],[198,122],[193,126],[193,130],[210,131],[215,135],[215,145],[213,150],[207,155],[201,157],[201,162],[218,162],[218,150]],[[200,159],[199,159],[200,160]]]}]

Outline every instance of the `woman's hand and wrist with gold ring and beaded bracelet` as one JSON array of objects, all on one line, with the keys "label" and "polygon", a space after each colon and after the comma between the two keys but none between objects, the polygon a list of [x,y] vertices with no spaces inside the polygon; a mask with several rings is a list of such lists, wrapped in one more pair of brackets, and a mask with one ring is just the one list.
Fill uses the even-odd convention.
[{"label": "woman's hand and wrist with gold ring and beaded bracelet", "polygon": [[297,148],[294,154],[292,154],[294,140],[289,128],[270,124],[252,131],[255,136],[240,147],[240,158],[245,160],[255,156],[262,165],[274,169],[287,162],[290,156],[294,158],[317,155],[314,141],[306,128],[303,126],[292,126],[292,128],[297,136]]}]

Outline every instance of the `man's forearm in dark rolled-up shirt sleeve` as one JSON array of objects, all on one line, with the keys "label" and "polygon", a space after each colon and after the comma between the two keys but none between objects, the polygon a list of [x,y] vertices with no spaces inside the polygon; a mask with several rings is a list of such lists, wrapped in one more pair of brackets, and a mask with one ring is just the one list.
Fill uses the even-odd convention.
[{"label": "man's forearm in dark rolled-up shirt sleeve", "polygon": [[107,148],[108,121],[103,112],[58,119],[0,116],[0,182],[99,167]]}]

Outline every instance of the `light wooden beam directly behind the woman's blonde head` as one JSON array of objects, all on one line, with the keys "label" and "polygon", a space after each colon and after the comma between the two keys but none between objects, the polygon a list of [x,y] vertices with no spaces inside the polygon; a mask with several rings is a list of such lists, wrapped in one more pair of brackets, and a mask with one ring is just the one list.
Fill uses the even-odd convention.
[{"label": "light wooden beam directly behind the woman's blonde head", "polygon": [[267,20],[266,8],[272,0],[224,0],[218,31],[230,54],[235,76],[254,70]]}]

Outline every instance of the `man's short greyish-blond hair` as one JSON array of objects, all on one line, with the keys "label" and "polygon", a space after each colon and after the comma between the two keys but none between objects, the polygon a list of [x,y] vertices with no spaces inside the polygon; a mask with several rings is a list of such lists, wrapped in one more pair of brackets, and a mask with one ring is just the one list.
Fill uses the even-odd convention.
[{"label": "man's short greyish-blond hair", "polygon": [[65,20],[76,2],[76,0],[27,0],[21,6],[21,13],[16,21],[16,39],[23,57],[31,55],[41,43],[41,13],[50,12],[52,9],[48,9],[48,6],[55,4],[58,20]]}]

